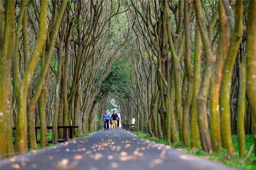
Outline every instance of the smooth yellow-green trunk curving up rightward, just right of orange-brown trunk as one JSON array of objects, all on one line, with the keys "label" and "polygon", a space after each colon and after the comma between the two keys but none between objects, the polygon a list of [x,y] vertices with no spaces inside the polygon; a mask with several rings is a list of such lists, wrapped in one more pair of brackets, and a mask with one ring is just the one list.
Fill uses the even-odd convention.
[{"label": "smooth yellow-green trunk curving up rightward, just right of orange-brown trunk", "polygon": [[230,128],[230,86],[232,68],[236,59],[237,50],[243,35],[243,23],[242,23],[242,1],[236,1],[236,22],[235,30],[231,37],[227,59],[224,63],[223,75],[221,81],[220,90],[220,129],[221,129],[221,140],[224,148],[229,153],[234,152],[234,147],[231,139],[231,128]]}]

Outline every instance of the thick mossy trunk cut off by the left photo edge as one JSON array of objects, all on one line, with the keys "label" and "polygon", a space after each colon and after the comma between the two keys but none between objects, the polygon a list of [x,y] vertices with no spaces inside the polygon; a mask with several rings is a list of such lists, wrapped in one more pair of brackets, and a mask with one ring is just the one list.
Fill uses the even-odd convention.
[{"label": "thick mossy trunk cut off by the left photo edge", "polygon": [[3,1],[1,6],[1,56],[0,56],[0,158],[12,156],[12,85],[10,70],[14,46],[15,1]]}]

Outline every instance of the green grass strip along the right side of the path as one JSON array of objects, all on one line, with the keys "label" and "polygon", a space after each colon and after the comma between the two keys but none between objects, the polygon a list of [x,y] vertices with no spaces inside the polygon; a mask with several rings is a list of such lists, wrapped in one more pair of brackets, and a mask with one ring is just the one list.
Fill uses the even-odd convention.
[{"label": "green grass strip along the right side of the path", "polygon": [[[150,134],[144,132],[133,132],[136,136],[148,139],[153,142],[161,143],[161,144],[168,144],[166,139],[159,139],[159,138],[152,138]],[[190,147],[185,147],[182,145],[181,142],[173,143],[171,146],[173,148],[179,148],[182,152],[188,152],[199,157],[203,157],[205,159],[210,159],[215,162],[222,162],[225,165],[236,167],[239,169],[256,169],[256,156],[254,150],[250,154],[250,156],[245,160],[244,158],[239,157],[239,147],[238,147],[238,137],[232,136],[233,145],[235,152],[230,154],[227,150],[222,149],[219,153],[212,152],[206,153],[202,149],[195,149]],[[245,135],[245,148],[248,154],[251,146],[253,145],[253,137],[252,135]]]}]

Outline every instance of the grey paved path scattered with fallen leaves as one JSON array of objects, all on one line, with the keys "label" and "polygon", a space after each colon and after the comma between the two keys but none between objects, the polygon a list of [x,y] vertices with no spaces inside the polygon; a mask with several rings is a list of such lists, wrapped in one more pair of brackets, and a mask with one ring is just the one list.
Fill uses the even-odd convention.
[{"label": "grey paved path scattered with fallen leaves", "polygon": [[1,170],[228,170],[230,167],[141,139],[122,128],[1,160]]}]

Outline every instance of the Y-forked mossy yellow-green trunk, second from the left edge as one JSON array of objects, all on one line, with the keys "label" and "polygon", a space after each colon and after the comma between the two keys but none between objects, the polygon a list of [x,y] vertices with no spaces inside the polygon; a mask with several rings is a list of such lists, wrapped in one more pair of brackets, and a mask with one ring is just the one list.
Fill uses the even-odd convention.
[{"label": "Y-forked mossy yellow-green trunk, second from the left edge", "polygon": [[[21,8],[25,9],[25,3],[27,2],[22,1]],[[35,69],[37,59],[39,57],[40,51],[43,48],[43,44],[45,42],[46,35],[47,35],[46,34],[47,29],[45,28],[45,26],[47,26],[47,23],[46,23],[47,8],[48,8],[48,1],[42,1],[40,20],[39,20],[39,34],[37,37],[36,46],[27,63],[27,67],[25,68],[25,74],[22,80],[20,80],[20,74],[18,70],[18,55],[17,53],[16,54],[14,53],[13,55],[13,66],[12,66],[13,80],[14,80],[15,96],[16,96],[17,107],[18,107],[18,121],[17,121],[17,127],[15,131],[15,152],[17,153],[25,153],[27,151],[27,92],[28,92],[29,85],[32,81],[32,73]],[[24,10],[23,10],[23,14],[24,14]],[[21,21],[23,19],[23,14],[20,15],[19,22],[18,22],[18,27],[16,32],[18,37],[20,36],[20,26],[21,26]],[[17,49],[18,49],[18,43],[16,40],[15,51]]]}]

